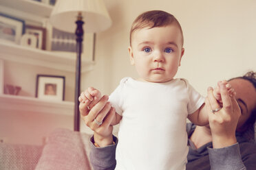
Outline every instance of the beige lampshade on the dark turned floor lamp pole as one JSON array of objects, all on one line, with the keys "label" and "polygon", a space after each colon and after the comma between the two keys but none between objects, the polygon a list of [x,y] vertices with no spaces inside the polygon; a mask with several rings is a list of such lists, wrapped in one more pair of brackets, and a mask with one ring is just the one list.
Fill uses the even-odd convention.
[{"label": "beige lampshade on the dark turned floor lamp pole", "polygon": [[111,25],[103,0],[57,0],[50,23],[56,29],[75,32],[78,12],[83,16],[83,29],[86,33],[100,32]]}]

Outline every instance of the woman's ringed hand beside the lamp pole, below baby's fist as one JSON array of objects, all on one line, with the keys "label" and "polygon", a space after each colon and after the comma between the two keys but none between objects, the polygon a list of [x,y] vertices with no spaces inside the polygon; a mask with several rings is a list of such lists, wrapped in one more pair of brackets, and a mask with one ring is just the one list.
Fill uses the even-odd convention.
[{"label": "woman's ringed hand beside the lamp pole, below baby's fist", "polygon": [[[94,142],[100,147],[105,147],[113,143],[113,126],[110,125],[115,115],[115,109],[111,108],[108,96],[104,95],[98,101],[94,100],[94,105],[90,102],[81,102],[79,110],[85,124],[94,131]],[[89,106],[89,107],[88,107]],[[89,110],[89,108],[92,108]],[[102,122],[101,125],[94,120]]]}]

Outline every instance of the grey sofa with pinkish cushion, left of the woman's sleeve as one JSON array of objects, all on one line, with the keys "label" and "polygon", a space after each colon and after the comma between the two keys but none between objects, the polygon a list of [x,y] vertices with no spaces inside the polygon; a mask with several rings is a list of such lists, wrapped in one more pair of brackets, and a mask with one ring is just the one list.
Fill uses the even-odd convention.
[{"label": "grey sofa with pinkish cushion, left of the woman's sleeve", "polygon": [[89,137],[88,134],[72,130],[57,129],[48,136],[47,143],[41,146],[0,143],[0,169],[91,170]]}]

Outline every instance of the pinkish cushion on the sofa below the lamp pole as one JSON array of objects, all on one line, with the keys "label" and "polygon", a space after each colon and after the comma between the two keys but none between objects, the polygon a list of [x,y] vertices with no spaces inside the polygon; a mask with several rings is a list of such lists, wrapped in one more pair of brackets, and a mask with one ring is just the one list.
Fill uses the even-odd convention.
[{"label": "pinkish cushion on the sofa below the lamp pole", "polygon": [[[85,142],[85,143],[84,143]],[[36,170],[83,169],[90,170],[88,160],[89,135],[67,129],[57,129],[50,134]]]}]

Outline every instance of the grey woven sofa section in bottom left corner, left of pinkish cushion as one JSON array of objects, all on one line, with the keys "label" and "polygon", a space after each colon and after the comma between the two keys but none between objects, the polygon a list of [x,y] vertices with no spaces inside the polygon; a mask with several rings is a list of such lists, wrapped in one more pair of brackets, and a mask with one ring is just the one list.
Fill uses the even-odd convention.
[{"label": "grey woven sofa section in bottom left corner, left of pinkish cushion", "polygon": [[0,169],[34,170],[43,146],[0,143]]}]

